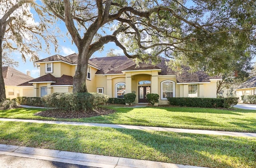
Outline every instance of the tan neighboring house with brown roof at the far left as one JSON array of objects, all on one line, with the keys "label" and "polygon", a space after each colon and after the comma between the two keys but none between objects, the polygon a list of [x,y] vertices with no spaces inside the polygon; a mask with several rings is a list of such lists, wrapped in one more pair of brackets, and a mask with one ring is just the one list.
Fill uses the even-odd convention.
[{"label": "tan neighboring house with brown roof at the far left", "polygon": [[13,99],[18,96],[23,96],[23,88],[18,87],[18,85],[34,79],[29,73],[30,72],[27,71],[27,74],[24,74],[9,66],[2,67],[6,98]]}]

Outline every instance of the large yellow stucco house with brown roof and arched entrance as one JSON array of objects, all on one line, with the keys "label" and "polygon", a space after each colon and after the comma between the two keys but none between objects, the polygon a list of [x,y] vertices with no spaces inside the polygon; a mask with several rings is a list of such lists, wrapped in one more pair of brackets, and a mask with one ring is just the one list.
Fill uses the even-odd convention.
[{"label": "large yellow stucco house with brown roof and arched entrance", "polygon": [[[20,85],[27,87],[24,96],[72,92],[77,58],[77,54],[54,55],[36,61],[40,65],[40,77]],[[188,68],[180,74],[166,65],[168,59],[161,60],[156,65],[137,65],[125,56],[90,59],[86,79],[88,92],[103,93],[110,98],[135,93],[136,103],[146,103],[148,93],[159,94],[159,104],[168,104],[167,97],[216,98],[216,82],[222,78],[210,77],[202,71],[191,74]]]}]

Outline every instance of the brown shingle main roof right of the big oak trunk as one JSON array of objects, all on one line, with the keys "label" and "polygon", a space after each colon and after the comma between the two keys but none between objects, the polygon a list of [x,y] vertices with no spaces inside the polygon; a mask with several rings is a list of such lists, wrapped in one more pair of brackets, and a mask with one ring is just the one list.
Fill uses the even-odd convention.
[{"label": "brown shingle main roof right of the big oak trunk", "polygon": [[210,82],[211,78],[221,78],[219,76],[208,76],[202,71],[190,73],[188,67],[183,67],[180,74],[166,64],[170,60],[162,57],[160,59],[160,63],[156,65],[151,63],[139,63],[137,65],[132,59],[128,59],[125,56],[93,58],[90,61],[96,63],[101,68],[96,74],[120,74],[124,70],[161,69],[159,75],[176,75],[177,83]]}]

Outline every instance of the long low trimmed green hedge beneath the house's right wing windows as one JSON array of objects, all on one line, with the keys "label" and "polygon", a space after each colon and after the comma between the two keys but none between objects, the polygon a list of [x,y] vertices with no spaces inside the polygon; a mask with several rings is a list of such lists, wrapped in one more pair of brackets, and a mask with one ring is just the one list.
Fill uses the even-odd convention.
[{"label": "long low trimmed green hedge beneath the house's right wing windows", "polygon": [[238,98],[167,98],[170,105],[186,107],[230,108],[238,103]]}]

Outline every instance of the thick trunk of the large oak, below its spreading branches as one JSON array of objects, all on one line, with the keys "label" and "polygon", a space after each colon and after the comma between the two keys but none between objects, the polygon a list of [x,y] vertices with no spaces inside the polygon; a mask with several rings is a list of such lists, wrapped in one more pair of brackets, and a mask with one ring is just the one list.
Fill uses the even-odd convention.
[{"label": "thick trunk of the large oak, below its spreading branches", "polygon": [[88,55],[88,50],[85,50],[86,47],[79,47],[82,48],[78,50],[78,63],[76,67],[76,73],[73,78],[73,93],[86,93],[88,92],[86,87],[86,78],[87,78],[87,68],[88,68],[88,61],[90,56]]}]

